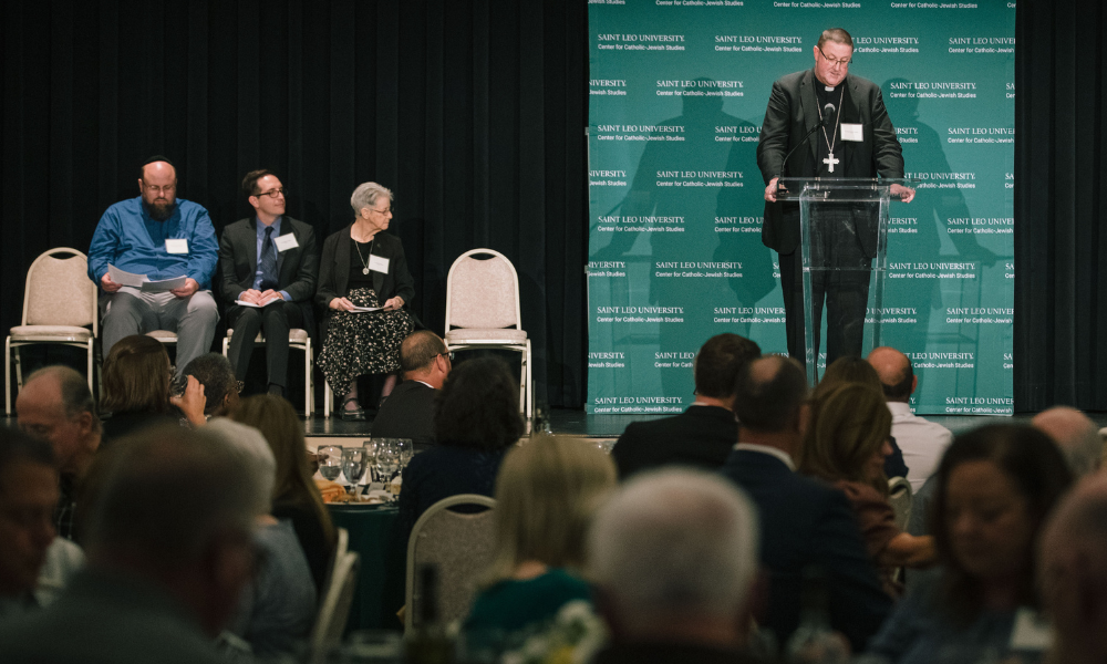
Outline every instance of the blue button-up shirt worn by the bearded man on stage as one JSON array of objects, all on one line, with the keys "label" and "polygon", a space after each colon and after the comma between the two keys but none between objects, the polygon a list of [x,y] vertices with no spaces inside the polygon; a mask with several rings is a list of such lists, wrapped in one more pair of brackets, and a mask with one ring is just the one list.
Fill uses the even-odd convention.
[{"label": "blue button-up shirt worn by the bearded man on stage", "polygon": [[[188,253],[166,251],[167,239],[188,240]],[[137,196],[116,203],[100,218],[89,247],[89,278],[99,286],[113,264],[155,281],[185,276],[210,289],[218,255],[219,242],[204,206],[178,198],[173,216],[155,221]]]}]

